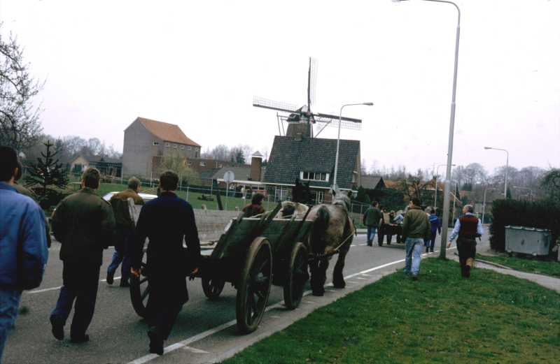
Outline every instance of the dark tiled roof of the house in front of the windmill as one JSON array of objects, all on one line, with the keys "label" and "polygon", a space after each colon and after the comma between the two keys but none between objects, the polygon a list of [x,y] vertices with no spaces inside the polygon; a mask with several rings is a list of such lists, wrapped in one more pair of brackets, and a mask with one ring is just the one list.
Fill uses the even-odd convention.
[{"label": "dark tiled roof of the house in front of the windmill", "polygon": [[[274,184],[294,184],[300,172],[330,173],[328,182],[311,181],[311,187],[330,187],[335,171],[337,152],[336,139],[302,138],[296,140],[288,136],[275,136],[270,152],[265,176],[262,182]],[[359,140],[340,140],[337,184],[349,189],[358,154]]]}]

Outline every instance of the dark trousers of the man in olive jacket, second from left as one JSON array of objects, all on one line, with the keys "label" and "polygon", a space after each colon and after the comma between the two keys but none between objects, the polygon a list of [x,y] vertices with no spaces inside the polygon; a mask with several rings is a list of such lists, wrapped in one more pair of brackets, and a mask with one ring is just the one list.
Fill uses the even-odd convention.
[{"label": "dark trousers of the man in olive jacket, second from left", "polygon": [[62,318],[65,325],[74,300],[74,316],[70,327],[71,337],[80,337],[90,326],[97,299],[97,286],[99,284],[99,265],[85,264],[83,262],[64,262],[62,280],[64,286],[60,289],[57,307],[52,314]]}]

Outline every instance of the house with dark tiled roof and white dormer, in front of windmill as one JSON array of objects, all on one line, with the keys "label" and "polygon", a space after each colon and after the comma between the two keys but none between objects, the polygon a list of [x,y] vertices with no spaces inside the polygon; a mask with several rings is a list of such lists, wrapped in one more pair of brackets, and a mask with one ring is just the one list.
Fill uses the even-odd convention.
[{"label": "house with dark tiled roof and white dormer, in front of windmill", "polygon": [[[304,133],[275,136],[263,184],[279,200],[290,198],[295,179],[309,181],[314,203],[331,201],[337,151],[336,139],[307,138]],[[337,184],[342,191],[360,186],[360,141],[340,140]]]}]

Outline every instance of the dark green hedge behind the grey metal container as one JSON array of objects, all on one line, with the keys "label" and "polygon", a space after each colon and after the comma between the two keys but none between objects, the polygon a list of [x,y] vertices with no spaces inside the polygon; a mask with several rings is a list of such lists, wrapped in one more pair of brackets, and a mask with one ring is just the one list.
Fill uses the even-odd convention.
[{"label": "dark green hedge behind the grey metal container", "polygon": [[494,200],[492,217],[490,246],[500,252],[505,252],[505,226],[549,229],[552,233],[550,249],[560,235],[560,205],[552,200]]}]

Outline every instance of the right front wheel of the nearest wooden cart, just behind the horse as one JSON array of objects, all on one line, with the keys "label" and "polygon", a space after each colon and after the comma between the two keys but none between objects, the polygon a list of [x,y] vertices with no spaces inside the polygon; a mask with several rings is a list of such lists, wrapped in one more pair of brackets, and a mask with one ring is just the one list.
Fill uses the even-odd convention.
[{"label": "right front wheel of the nearest wooden cart, just behind the horse", "polygon": [[284,283],[284,303],[288,310],[294,310],[300,305],[307,279],[309,279],[307,249],[301,242],[296,242],[292,254],[290,254],[290,263],[288,263]]}]

